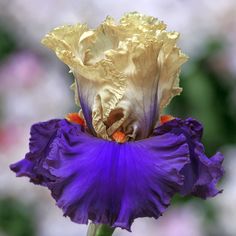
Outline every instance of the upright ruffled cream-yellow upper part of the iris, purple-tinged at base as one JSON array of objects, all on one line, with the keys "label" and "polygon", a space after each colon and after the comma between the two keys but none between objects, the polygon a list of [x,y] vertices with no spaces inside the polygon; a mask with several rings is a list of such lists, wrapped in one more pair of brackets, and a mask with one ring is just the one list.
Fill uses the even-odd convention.
[{"label": "upright ruffled cream-yellow upper part of the iris, purple-tinged at base", "polygon": [[122,130],[130,139],[149,137],[162,108],[181,92],[187,60],[177,32],[139,13],[117,24],[108,17],[97,29],[77,24],[54,29],[42,43],[75,76],[75,92],[90,132],[104,139]]}]

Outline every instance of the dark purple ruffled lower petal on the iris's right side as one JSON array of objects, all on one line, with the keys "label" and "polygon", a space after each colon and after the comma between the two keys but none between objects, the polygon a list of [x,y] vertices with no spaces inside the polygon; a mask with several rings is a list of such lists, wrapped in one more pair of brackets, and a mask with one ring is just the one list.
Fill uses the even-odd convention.
[{"label": "dark purple ruffled lower petal on the iris's right side", "polygon": [[190,163],[182,170],[184,175],[184,185],[180,193],[182,195],[192,194],[201,198],[214,197],[222,190],[218,190],[216,185],[223,176],[223,155],[217,152],[211,158],[204,153],[204,146],[201,143],[203,127],[192,119],[186,120],[174,119],[158,127],[155,130],[156,135],[170,132],[173,134],[182,134],[186,137]]}]

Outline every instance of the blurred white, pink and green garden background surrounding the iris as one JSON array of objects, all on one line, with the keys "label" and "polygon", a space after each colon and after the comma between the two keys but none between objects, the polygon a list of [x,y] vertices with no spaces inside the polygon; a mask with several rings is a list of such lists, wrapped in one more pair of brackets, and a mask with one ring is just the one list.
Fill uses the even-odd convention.
[{"label": "blurred white, pink and green garden background surrounding the iris", "polygon": [[40,44],[52,28],[139,11],[181,33],[190,56],[182,96],[167,112],[192,116],[205,127],[209,156],[225,155],[224,193],[208,201],[176,196],[158,220],[138,219],[115,236],[236,235],[236,1],[235,0],[0,0],[0,236],[84,236],[55,206],[49,191],[15,178],[9,164],[28,150],[32,123],[75,111],[68,68]]}]

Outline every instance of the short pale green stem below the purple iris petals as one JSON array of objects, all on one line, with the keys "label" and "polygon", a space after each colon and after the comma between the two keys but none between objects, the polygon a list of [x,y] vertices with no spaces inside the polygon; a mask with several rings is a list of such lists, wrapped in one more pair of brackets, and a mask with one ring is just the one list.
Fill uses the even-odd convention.
[{"label": "short pale green stem below the purple iris petals", "polygon": [[87,236],[112,236],[115,228],[108,225],[99,225],[90,223]]}]

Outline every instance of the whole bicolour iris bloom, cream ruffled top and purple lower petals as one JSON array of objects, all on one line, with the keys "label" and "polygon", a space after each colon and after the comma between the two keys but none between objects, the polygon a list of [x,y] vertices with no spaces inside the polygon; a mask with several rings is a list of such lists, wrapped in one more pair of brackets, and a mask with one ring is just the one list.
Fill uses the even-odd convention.
[{"label": "whole bicolour iris bloom, cream ruffled top and purple lower petals", "polygon": [[47,187],[72,221],[127,230],[138,217],[160,217],[176,193],[220,193],[223,156],[205,155],[202,125],[163,115],[182,90],[178,36],[136,12],[97,29],[52,30],[42,43],[69,66],[81,109],[34,124],[29,152],[11,169]]}]

